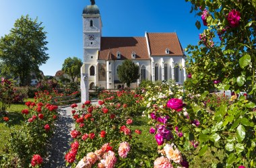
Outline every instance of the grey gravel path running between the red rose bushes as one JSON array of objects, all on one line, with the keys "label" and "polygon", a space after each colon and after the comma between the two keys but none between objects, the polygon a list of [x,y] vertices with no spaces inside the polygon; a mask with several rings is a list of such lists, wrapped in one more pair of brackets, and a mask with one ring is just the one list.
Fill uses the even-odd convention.
[{"label": "grey gravel path running between the red rose bushes", "polygon": [[[98,104],[98,99],[91,101],[92,104]],[[82,103],[78,103],[78,109]],[[47,146],[46,158],[44,158],[43,168],[63,168],[65,166],[65,154],[70,149],[71,130],[75,128],[70,106],[59,107],[59,118],[55,124],[53,137]]]}]

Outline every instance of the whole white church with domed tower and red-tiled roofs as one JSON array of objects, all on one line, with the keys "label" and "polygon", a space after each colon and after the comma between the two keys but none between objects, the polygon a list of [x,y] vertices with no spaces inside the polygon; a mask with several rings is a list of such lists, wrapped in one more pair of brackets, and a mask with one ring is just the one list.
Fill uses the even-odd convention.
[{"label": "whole white church with domed tower and red-tiled roofs", "polygon": [[[91,1],[83,14],[84,64],[81,68],[82,102],[88,99],[88,89],[94,86],[120,89],[117,72],[123,60],[139,66],[140,77],[131,88],[143,80],[186,80],[185,54],[176,33],[150,33],[142,37],[102,37],[100,9]],[[86,95],[84,95],[86,94]],[[84,95],[84,96],[83,96]]]}]

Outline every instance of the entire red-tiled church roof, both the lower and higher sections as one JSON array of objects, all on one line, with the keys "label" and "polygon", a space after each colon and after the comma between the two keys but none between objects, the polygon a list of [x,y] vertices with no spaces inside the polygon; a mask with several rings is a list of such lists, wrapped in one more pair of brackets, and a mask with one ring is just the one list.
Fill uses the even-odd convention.
[{"label": "entire red-tiled church roof, both the lower and higher sections", "polygon": [[[146,37],[102,37],[99,60],[117,60],[120,52],[120,60],[131,59],[135,53],[135,60],[150,60],[150,56],[183,56],[183,48],[176,33],[147,33]],[[166,54],[168,48],[169,54]]]}]

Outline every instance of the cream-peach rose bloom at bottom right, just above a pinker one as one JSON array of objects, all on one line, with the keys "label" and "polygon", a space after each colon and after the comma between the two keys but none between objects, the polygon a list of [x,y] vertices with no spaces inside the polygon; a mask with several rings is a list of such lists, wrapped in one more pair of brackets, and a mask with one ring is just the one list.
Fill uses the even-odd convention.
[{"label": "cream-peach rose bloom at bottom right, just above a pinker one", "polygon": [[164,146],[164,152],[166,153],[166,157],[175,163],[181,163],[183,158],[181,156],[181,152],[178,149],[173,149],[174,144],[166,144]]}]

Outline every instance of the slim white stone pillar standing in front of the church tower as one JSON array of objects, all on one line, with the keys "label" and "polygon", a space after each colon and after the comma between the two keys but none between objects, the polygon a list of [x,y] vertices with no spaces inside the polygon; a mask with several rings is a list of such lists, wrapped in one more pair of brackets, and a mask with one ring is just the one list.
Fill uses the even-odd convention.
[{"label": "slim white stone pillar standing in front of the church tower", "polygon": [[81,67],[81,102],[89,100],[89,81],[88,81],[88,73],[86,73],[86,64],[83,64]]}]

